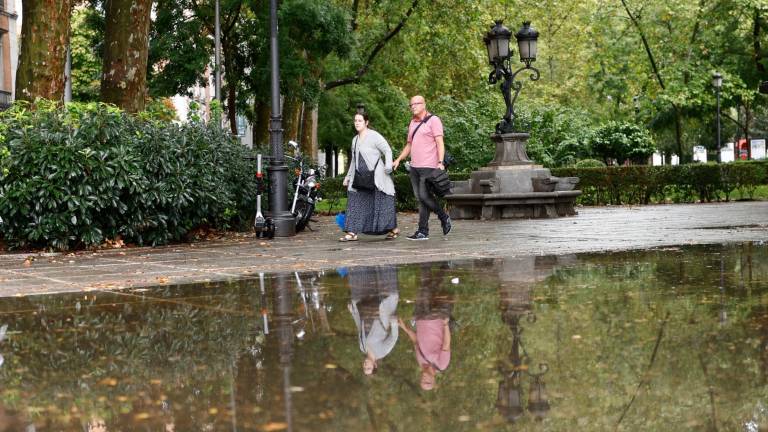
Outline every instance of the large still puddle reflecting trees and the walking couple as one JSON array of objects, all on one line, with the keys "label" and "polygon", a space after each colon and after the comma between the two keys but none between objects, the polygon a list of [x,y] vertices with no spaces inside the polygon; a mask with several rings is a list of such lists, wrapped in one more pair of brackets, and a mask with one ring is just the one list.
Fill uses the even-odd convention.
[{"label": "large still puddle reflecting trees and the walking couple", "polygon": [[10,298],[0,328],[0,431],[768,426],[764,244]]}]

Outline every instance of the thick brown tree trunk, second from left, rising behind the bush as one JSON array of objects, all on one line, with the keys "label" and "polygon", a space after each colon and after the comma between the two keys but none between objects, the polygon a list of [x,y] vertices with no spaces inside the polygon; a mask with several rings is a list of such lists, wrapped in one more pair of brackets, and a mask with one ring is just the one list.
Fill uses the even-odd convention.
[{"label": "thick brown tree trunk, second from left, rising behind the bush", "polygon": [[128,112],[144,109],[152,0],[106,0],[101,100]]}]

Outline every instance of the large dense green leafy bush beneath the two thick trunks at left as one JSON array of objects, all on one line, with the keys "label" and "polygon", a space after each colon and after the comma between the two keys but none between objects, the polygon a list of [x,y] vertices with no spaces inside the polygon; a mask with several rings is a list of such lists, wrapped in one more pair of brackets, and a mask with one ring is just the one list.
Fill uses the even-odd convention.
[{"label": "large dense green leafy bush beneath the two thick trunks at left", "polygon": [[164,244],[240,224],[253,208],[247,150],[215,125],[44,101],[17,103],[0,124],[0,235],[10,247]]}]

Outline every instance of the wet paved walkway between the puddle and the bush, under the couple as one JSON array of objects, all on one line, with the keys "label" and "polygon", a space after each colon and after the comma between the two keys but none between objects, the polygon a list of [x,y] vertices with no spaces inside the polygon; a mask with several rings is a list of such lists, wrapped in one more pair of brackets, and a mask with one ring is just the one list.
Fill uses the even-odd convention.
[{"label": "wet paved walkway between the puddle and the bush, under the couple", "polygon": [[[261,241],[253,235],[160,248],[76,254],[0,255],[0,296],[117,289],[321,270],[466,258],[550,255],[685,244],[768,241],[768,202],[580,208],[561,219],[454,221],[447,237],[339,243],[333,218],[314,232]],[[416,215],[398,215],[404,234]]]}]

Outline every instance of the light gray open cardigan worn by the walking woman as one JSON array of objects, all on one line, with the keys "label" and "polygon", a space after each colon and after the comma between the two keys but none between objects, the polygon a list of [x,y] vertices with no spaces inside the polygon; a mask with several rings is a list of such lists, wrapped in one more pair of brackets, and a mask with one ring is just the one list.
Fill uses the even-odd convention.
[{"label": "light gray open cardigan worn by the walking woman", "polygon": [[[352,187],[352,182],[355,180],[358,155],[365,160],[365,165],[368,166],[368,169],[373,169],[374,165],[376,166],[376,171],[373,174],[376,189],[387,195],[394,196],[395,182],[392,181],[392,176],[390,175],[392,174],[392,149],[389,147],[387,140],[373,129],[368,129],[363,139],[357,139],[357,136],[352,138],[352,153],[349,158],[349,169],[347,169],[345,177],[347,180],[347,190],[352,192],[357,192]],[[381,160],[376,165],[376,162],[381,159],[382,155],[384,160]]]}]

